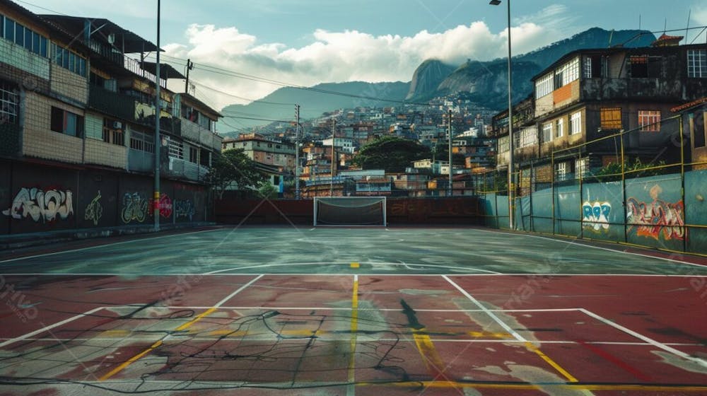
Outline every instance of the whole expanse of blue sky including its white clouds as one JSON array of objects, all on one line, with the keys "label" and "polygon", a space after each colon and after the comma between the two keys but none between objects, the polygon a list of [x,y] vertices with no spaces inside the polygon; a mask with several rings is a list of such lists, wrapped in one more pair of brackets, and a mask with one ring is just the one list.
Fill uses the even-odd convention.
[{"label": "whole expanse of blue sky including its white clouds", "polygon": [[[18,3],[36,13],[108,18],[156,40],[156,0]],[[707,25],[707,2],[697,0],[512,0],[511,8],[514,54],[595,26],[684,29],[689,13],[691,27]],[[256,99],[279,86],[214,74],[207,66],[305,86],[409,81],[430,57],[461,64],[505,56],[506,23],[506,0],[501,6],[488,0],[162,0],[161,45],[165,59],[196,63],[197,96],[221,108],[246,100],[213,88]],[[691,30],[688,40],[699,31]],[[705,42],[705,34],[697,40]],[[183,60],[174,62],[183,69]]]}]

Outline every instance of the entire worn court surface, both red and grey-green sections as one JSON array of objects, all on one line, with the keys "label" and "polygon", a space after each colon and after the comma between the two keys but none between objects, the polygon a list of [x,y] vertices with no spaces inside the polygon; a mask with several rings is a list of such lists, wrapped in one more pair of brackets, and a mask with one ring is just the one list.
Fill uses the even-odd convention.
[{"label": "entire worn court surface, both red and grey-green sections", "polygon": [[0,395],[704,395],[707,262],[481,228],[0,253]]}]

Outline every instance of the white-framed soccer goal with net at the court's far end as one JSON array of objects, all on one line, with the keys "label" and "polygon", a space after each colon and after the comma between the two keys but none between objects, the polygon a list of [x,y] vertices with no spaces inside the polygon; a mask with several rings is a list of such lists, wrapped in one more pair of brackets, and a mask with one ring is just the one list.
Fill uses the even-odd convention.
[{"label": "white-framed soccer goal with net at the court's far end", "polygon": [[385,227],[385,197],[315,197],[314,225]]}]

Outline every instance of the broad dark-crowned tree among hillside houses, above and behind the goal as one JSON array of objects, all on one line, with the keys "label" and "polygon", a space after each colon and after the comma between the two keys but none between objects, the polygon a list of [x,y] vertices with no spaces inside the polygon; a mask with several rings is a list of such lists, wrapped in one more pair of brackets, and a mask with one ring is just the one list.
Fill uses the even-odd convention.
[{"label": "broad dark-crowned tree among hillside houses, above and behind the goal", "polygon": [[363,146],[353,162],[363,169],[403,172],[412,161],[424,158],[431,158],[431,151],[419,142],[397,136],[384,136]]}]

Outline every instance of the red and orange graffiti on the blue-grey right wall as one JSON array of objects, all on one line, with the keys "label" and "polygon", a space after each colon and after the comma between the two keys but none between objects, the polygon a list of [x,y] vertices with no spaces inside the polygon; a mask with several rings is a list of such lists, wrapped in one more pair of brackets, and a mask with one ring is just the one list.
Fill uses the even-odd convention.
[{"label": "red and orange graffiti on the blue-grey right wall", "polygon": [[665,202],[659,195],[662,188],[655,185],[650,189],[653,202],[641,202],[637,198],[626,200],[626,224],[629,231],[636,230],[636,235],[665,240],[684,240],[684,203]]}]

